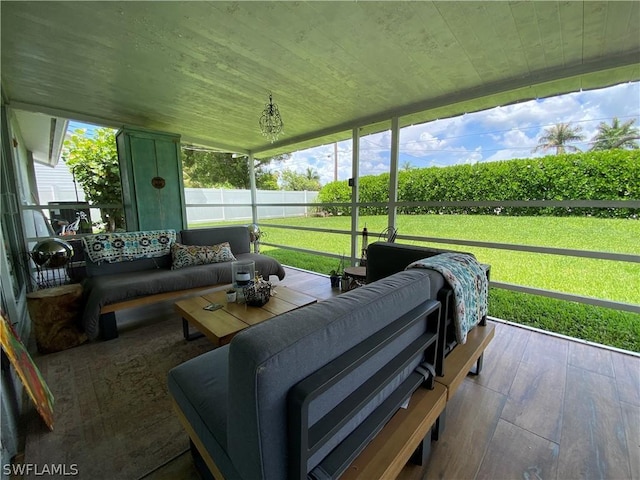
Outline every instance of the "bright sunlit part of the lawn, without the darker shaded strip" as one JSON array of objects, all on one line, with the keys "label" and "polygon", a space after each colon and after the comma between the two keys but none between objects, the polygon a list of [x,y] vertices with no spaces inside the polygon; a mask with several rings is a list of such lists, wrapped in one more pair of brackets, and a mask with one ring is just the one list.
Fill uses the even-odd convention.
[{"label": "bright sunlit part of the lawn, without the darker shaded strip", "polygon": [[[287,218],[264,223],[349,230],[346,217]],[[372,232],[386,226],[386,217],[361,217],[360,228]],[[350,253],[348,235],[287,231],[263,227],[264,241],[335,254]],[[455,238],[640,254],[640,221],[581,217],[500,217],[472,215],[404,215],[398,219],[401,235]],[[370,238],[371,241],[376,238]],[[418,243],[405,242],[402,243]],[[491,265],[495,281],[640,304],[640,264],[562,257],[464,245],[432,244],[472,252]],[[335,263],[335,262],[334,262]],[[333,267],[331,267],[333,268]],[[331,270],[329,268],[329,270]],[[323,273],[328,273],[324,271]]]}]

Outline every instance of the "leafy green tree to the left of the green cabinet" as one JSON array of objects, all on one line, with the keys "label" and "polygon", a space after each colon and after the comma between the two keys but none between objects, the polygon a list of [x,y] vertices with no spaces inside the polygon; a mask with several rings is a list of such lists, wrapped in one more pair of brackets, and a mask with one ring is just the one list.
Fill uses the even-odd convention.
[{"label": "leafy green tree to the left of the green cabinet", "polygon": [[[122,204],[115,132],[109,128],[97,128],[93,138],[85,134],[86,130],[78,129],[65,140],[64,162],[91,204]],[[108,231],[124,228],[124,211],[121,208],[103,208],[101,214]]]}]

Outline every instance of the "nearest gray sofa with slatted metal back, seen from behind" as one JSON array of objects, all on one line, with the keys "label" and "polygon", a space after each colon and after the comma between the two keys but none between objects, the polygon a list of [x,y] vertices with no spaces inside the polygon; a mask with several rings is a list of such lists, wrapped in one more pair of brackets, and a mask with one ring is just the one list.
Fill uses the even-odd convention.
[{"label": "nearest gray sofa with slatted metal back, seen from behind", "polygon": [[169,391],[205,478],[344,472],[406,399],[434,388],[430,275],[396,273],[279,315],[172,369]]}]

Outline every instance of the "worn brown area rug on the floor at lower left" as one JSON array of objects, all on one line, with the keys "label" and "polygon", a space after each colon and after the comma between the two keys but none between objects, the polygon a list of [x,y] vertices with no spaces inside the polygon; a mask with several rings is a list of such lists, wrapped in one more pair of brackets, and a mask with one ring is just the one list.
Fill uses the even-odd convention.
[{"label": "worn brown area rug on the floor at lower left", "polygon": [[185,452],[167,372],[211,348],[185,341],[180,319],[165,315],[115,340],[36,357],[55,396],[54,430],[27,415],[24,462],[36,467],[24,478],[47,468],[47,478],[138,479]]}]

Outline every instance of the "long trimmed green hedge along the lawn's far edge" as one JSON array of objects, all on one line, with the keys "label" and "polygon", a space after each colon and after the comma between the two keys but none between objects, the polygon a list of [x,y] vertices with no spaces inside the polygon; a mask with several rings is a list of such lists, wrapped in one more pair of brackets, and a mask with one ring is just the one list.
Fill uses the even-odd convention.
[{"label": "long trimmed green hedge along the lawn's far edge", "polygon": [[[387,202],[389,174],[360,178],[360,202]],[[640,152],[605,150],[542,158],[430,167],[398,173],[398,201],[486,200],[631,200],[640,199]],[[346,181],[331,182],[319,192],[322,203],[351,201]],[[349,214],[348,207],[327,207]],[[640,209],[537,207],[399,207],[399,213],[421,215],[501,214],[638,218]],[[385,207],[363,207],[363,215],[383,215]]]}]

